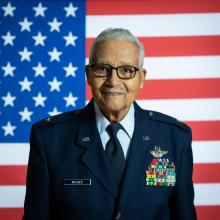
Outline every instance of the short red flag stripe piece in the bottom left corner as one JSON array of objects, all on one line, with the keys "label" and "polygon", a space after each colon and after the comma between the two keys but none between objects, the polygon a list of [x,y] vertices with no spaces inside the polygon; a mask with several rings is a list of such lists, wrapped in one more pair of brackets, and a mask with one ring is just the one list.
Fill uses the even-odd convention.
[{"label": "short red flag stripe piece in the bottom left corner", "polygon": [[23,208],[0,208],[1,220],[20,220],[22,215]]}]

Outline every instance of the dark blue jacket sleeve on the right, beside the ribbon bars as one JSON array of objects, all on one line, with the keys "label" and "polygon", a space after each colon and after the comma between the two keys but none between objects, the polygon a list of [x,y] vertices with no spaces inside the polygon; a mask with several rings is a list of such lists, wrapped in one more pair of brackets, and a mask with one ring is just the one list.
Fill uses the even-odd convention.
[{"label": "dark blue jacket sleeve on the right, beside the ribbon bars", "polygon": [[196,220],[194,188],[192,182],[193,155],[192,132],[187,132],[185,146],[180,157],[180,167],[176,179],[176,191],[172,198],[173,218],[175,220]]}]

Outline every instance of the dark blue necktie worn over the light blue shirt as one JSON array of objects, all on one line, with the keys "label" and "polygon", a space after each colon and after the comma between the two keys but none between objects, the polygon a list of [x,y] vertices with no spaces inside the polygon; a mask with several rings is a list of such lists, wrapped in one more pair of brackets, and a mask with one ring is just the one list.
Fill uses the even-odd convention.
[{"label": "dark blue necktie worn over the light blue shirt", "polygon": [[110,139],[107,142],[105,148],[106,155],[109,159],[118,186],[120,184],[120,180],[125,167],[124,153],[117,138],[119,129],[123,129],[122,125],[119,123],[111,123],[106,128]]}]

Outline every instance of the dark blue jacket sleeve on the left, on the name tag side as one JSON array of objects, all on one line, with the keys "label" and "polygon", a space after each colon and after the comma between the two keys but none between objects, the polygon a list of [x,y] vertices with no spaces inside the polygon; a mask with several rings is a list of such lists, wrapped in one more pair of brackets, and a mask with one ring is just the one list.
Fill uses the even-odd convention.
[{"label": "dark blue jacket sleeve on the left, on the name tag side", "polygon": [[23,220],[48,220],[49,217],[49,174],[46,155],[37,129],[33,126],[30,135],[26,196]]}]

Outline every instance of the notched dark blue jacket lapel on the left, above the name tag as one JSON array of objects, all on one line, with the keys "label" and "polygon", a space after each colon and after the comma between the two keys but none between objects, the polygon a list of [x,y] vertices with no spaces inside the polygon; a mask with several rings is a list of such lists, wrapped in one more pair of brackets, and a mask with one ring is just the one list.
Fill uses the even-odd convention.
[{"label": "notched dark blue jacket lapel on the left, above the name tag", "polygon": [[117,188],[113,179],[111,168],[102,147],[95,121],[94,102],[82,110],[79,119],[79,133],[77,144],[85,148],[81,161],[93,173],[99,183],[116,198]]}]

